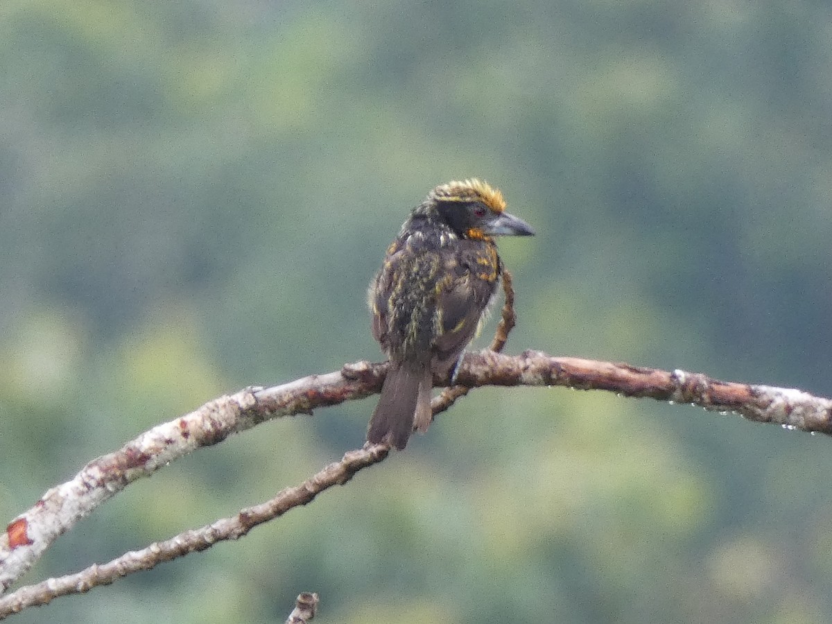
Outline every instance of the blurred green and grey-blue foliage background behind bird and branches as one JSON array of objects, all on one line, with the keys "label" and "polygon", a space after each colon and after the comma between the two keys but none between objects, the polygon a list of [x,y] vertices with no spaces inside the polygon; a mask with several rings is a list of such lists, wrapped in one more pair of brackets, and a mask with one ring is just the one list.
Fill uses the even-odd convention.
[{"label": "blurred green and grey-blue foliage background behind bird and branches", "polygon": [[[382,359],[366,286],[479,176],[508,353],[832,395],[829,2],[0,4],[0,515],[219,394]],[[475,345],[488,344],[494,321]],[[260,502],[375,399],[133,484],[27,582]],[[481,389],[308,508],[15,622],[832,622],[832,444]],[[317,620],[316,620],[317,622]]]}]

